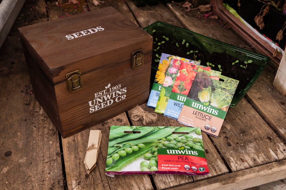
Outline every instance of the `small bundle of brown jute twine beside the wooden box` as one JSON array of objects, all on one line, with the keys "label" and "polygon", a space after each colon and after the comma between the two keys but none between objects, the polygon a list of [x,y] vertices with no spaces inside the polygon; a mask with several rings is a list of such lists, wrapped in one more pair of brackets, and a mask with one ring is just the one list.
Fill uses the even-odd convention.
[{"label": "small bundle of brown jute twine beside the wooden box", "polygon": [[157,115],[144,111],[140,106],[136,106],[132,109],[131,119],[134,121],[142,120],[143,125],[154,123],[157,119]]}]

